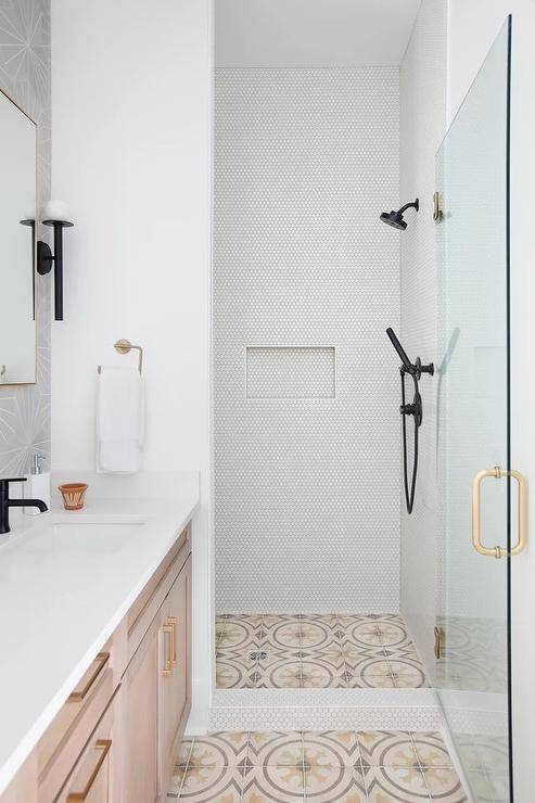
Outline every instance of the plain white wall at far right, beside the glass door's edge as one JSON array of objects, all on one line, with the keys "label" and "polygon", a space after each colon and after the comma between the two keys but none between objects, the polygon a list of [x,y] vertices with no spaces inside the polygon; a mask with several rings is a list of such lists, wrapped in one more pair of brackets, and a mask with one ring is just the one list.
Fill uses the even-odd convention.
[{"label": "plain white wall at far right, beside the glass door's edge", "polygon": [[[512,334],[512,466],[531,481],[535,505],[535,425],[533,417],[535,342],[533,316],[535,246],[535,3],[533,0],[449,0],[448,95],[451,119],[508,13],[513,15],[511,129],[511,334]],[[475,188],[476,191],[477,188]],[[533,515],[532,515],[533,521]],[[533,537],[531,527],[531,537]],[[515,800],[533,799],[533,722],[535,693],[533,639],[535,550],[512,561],[513,598],[513,738]]]}]

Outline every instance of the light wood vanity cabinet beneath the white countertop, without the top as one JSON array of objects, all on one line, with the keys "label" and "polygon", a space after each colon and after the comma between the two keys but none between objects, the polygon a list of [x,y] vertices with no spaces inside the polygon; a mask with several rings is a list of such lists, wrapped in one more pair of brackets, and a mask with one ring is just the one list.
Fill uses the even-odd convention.
[{"label": "light wood vanity cabinet beneath the white countertop, without the top", "polygon": [[165,800],[190,708],[188,525],[0,803]]}]

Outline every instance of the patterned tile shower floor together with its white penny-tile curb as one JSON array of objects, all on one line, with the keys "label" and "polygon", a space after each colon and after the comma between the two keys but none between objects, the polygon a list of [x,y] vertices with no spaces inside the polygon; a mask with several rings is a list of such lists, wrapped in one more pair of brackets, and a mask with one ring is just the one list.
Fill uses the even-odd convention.
[{"label": "patterned tile shower floor together with its white penny-tile curb", "polygon": [[226,614],[216,620],[211,730],[442,730],[403,617]]}]

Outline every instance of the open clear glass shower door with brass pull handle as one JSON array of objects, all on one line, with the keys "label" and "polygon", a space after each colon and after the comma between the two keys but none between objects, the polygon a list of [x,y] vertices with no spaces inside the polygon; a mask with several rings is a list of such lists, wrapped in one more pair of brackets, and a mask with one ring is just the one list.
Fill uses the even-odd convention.
[{"label": "open clear glass shower door with brass pull handle", "polygon": [[510,48],[507,20],[436,156],[435,680],[475,803],[512,800],[509,552],[522,479],[509,446]]}]

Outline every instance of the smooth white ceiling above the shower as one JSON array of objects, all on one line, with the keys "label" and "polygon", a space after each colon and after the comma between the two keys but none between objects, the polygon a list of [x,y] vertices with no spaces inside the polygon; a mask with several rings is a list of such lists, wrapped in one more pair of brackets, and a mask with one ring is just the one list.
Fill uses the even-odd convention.
[{"label": "smooth white ceiling above the shower", "polygon": [[421,0],[214,0],[218,67],[400,63]]}]

